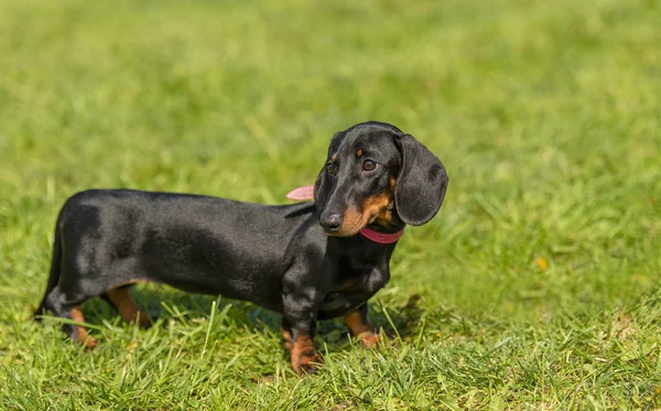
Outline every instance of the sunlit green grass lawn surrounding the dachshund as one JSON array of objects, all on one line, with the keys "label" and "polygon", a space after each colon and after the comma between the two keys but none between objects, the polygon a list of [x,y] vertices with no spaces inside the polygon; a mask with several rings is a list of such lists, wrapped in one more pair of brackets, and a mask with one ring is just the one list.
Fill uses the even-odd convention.
[{"label": "sunlit green grass lawn surrounding the dachshund", "polygon": [[[661,3],[0,0],[1,410],[661,408]],[[438,216],[372,299],[391,345],[139,285],[155,327],[30,321],[88,187],[284,204],[335,131],[394,123],[445,163]]]}]

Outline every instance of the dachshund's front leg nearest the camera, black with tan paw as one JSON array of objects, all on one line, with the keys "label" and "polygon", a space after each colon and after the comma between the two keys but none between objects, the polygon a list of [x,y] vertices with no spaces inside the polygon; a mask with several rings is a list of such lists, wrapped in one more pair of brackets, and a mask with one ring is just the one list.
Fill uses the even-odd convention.
[{"label": "dachshund's front leg nearest the camera, black with tan paw", "polygon": [[316,311],[311,300],[297,293],[283,298],[282,336],[291,353],[292,368],[297,375],[312,374],[323,363],[314,348]]}]

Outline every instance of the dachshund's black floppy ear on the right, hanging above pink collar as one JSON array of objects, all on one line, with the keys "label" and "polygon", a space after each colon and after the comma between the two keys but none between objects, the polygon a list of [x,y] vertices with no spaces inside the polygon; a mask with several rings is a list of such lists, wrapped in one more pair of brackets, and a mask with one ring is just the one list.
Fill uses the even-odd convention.
[{"label": "dachshund's black floppy ear on the right, hanging above pink collar", "polygon": [[398,138],[402,167],[394,187],[394,206],[402,221],[421,226],[431,220],[443,204],[447,173],[443,163],[411,134]]}]

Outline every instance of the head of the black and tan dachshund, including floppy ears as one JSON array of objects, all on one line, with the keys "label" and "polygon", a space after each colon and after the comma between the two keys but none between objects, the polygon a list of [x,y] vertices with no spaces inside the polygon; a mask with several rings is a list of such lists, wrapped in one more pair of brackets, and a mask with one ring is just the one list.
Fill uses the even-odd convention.
[{"label": "head of the black and tan dachshund, including floppy ears", "polygon": [[413,136],[368,121],[333,137],[314,201],[326,234],[348,237],[372,223],[427,223],[441,208],[447,182],[441,161]]}]

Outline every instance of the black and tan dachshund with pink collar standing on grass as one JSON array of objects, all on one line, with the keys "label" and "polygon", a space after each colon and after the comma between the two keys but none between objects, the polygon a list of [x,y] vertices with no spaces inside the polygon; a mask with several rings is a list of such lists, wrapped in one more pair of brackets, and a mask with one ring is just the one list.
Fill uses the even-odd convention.
[{"label": "black and tan dachshund with pink collar standing on grass", "polygon": [[[297,374],[322,358],[317,320],[344,316],[366,346],[378,342],[367,301],[388,283],[407,224],[427,223],[447,188],[441,161],[397,127],[369,121],[336,133],[314,203],[267,206],[202,195],[91,190],[67,199],[55,227],[47,289],[35,315],[84,322],[101,296],[150,325],[129,294],[142,281],[245,300],[282,313]],[[80,325],[63,325],[86,347]]]}]

